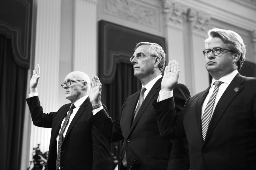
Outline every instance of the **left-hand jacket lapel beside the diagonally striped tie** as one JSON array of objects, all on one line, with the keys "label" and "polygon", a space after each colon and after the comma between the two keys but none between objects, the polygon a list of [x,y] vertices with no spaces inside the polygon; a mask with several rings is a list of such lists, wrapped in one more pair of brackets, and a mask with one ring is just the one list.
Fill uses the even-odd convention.
[{"label": "left-hand jacket lapel beside the diagonally striped tie", "polygon": [[[201,95],[198,96],[196,104],[195,104],[196,124],[197,124],[197,128],[198,128],[199,134],[201,136],[202,136],[202,132],[201,132],[202,105],[203,105],[203,102],[204,102],[207,94],[209,93],[210,88],[211,88],[211,85],[204,92],[202,92]],[[203,137],[202,137],[202,139],[203,139]]]}]

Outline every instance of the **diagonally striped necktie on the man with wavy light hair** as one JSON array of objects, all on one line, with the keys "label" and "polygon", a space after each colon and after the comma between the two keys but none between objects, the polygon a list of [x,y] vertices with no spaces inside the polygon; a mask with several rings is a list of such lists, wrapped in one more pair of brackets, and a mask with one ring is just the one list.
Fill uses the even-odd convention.
[{"label": "diagonally striped necktie on the man with wavy light hair", "polygon": [[213,90],[213,94],[212,96],[210,97],[207,105],[206,105],[206,108],[203,112],[203,117],[202,117],[202,120],[201,120],[201,127],[202,127],[202,136],[203,136],[203,140],[205,139],[205,136],[206,136],[206,132],[207,132],[207,129],[208,129],[208,125],[209,125],[209,122],[210,122],[210,119],[211,119],[211,115],[212,115],[212,112],[213,112],[213,105],[214,105],[214,102],[215,102],[215,98],[216,98],[216,95],[217,95],[217,92],[219,90],[219,87],[220,87],[220,84],[222,82],[221,81],[215,81],[215,88]]}]

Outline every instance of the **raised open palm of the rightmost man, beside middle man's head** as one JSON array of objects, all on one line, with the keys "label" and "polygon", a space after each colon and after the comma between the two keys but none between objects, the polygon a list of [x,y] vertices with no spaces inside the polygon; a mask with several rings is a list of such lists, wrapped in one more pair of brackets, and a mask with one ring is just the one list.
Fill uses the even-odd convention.
[{"label": "raised open palm of the rightmost man, beside middle man's head", "polygon": [[178,83],[180,70],[178,70],[178,62],[169,61],[168,66],[164,69],[164,76],[162,79],[162,91],[172,91]]}]

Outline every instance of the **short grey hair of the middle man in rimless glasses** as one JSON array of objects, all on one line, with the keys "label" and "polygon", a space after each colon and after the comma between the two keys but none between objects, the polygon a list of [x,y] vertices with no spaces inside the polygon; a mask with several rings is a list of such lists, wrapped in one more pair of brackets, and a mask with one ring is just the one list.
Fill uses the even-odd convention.
[{"label": "short grey hair of the middle man in rimless glasses", "polygon": [[161,61],[160,63],[158,64],[158,68],[159,70],[163,71],[164,69],[164,64],[165,64],[165,53],[164,53],[164,50],[163,48],[159,45],[159,44],[156,44],[156,43],[149,43],[149,42],[140,42],[136,45],[136,47],[134,48],[134,51],[139,47],[139,46],[142,46],[142,45],[149,45],[149,49],[147,51],[147,53],[149,53],[150,55],[152,55],[153,57],[160,57],[161,58]]}]

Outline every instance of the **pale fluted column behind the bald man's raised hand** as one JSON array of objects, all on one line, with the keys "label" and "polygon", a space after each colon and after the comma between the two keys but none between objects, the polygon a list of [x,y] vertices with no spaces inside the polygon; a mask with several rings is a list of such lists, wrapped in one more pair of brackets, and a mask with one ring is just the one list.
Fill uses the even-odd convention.
[{"label": "pale fluted column behind the bald man's raised hand", "polygon": [[[34,64],[40,65],[38,96],[45,113],[57,111],[60,54],[61,0],[35,0],[36,35]],[[32,42],[33,43],[33,42]],[[49,150],[51,128],[31,125],[31,152],[40,144],[42,152]]]}]

